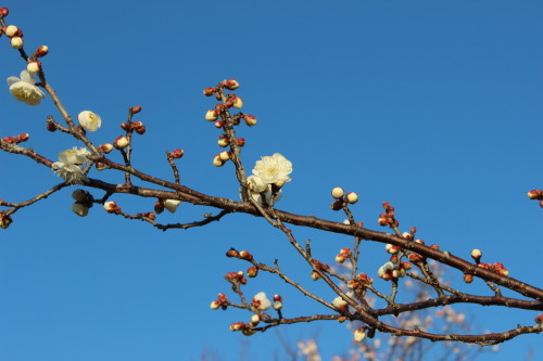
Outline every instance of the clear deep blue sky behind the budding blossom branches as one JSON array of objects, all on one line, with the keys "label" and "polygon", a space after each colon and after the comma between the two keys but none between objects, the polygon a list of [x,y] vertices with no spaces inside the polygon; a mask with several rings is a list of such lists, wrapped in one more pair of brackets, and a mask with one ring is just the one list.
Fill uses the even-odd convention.
[{"label": "clear deep blue sky behind the budding blossom branches", "polygon": [[[231,165],[211,166],[218,131],[203,119],[202,89],[236,78],[244,111],[248,168],[280,152],[294,166],[278,208],[342,221],[329,209],[331,188],[356,191],[358,220],[378,229],[382,201],[401,225],[468,257],[501,261],[515,278],[541,286],[543,211],[526,192],[542,188],[543,3],[540,1],[2,1],[9,24],[25,31],[28,51],[50,47],[43,66],[72,113],[102,116],[97,143],[121,134],[126,109],[140,104],[148,133],[136,139],[136,167],[172,177],[165,150],[182,147],[181,179],[213,195],[238,197]],[[0,38],[0,78],[24,64]],[[50,158],[72,140],[45,131],[60,119],[50,100],[37,107],[0,91],[1,137],[29,132]],[[0,155],[0,197],[20,202],[55,184],[28,159]],[[91,177],[98,177],[96,172]],[[122,175],[106,173],[111,182]],[[242,215],[190,231],[162,233],[92,208],[71,212],[71,191],[17,212],[0,232],[0,359],[7,361],[199,360],[204,350],[238,360],[272,360],[274,332],[244,338],[228,331],[249,314],[211,311],[233,246],[280,265],[300,282],[308,269],[262,219]],[[99,197],[100,192],[93,192]],[[124,210],[149,211],[151,199],[114,198]],[[162,220],[191,221],[209,209],[184,204]],[[294,228],[315,254],[333,261],[351,240]],[[363,249],[376,272],[382,246]],[[460,275],[455,273],[456,281]],[[481,284],[471,289],[482,289]],[[326,312],[269,276],[251,281],[285,296],[285,314]],[[326,298],[326,297],[325,297]],[[467,310],[476,328],[530,324],[535,312]],[[287,327],[285,327],[287,328]],[[312,337],[315,326],[285,330]],[[325,360],[350,346],[343,325],[321,323]],[[519,337],[498,356],[525,359],[541,336]],[[245,349],[247,351],[247,349]],[[538,351],[536,351],[538,352]],[[538,352],[536,357],[541,358]]]}]

